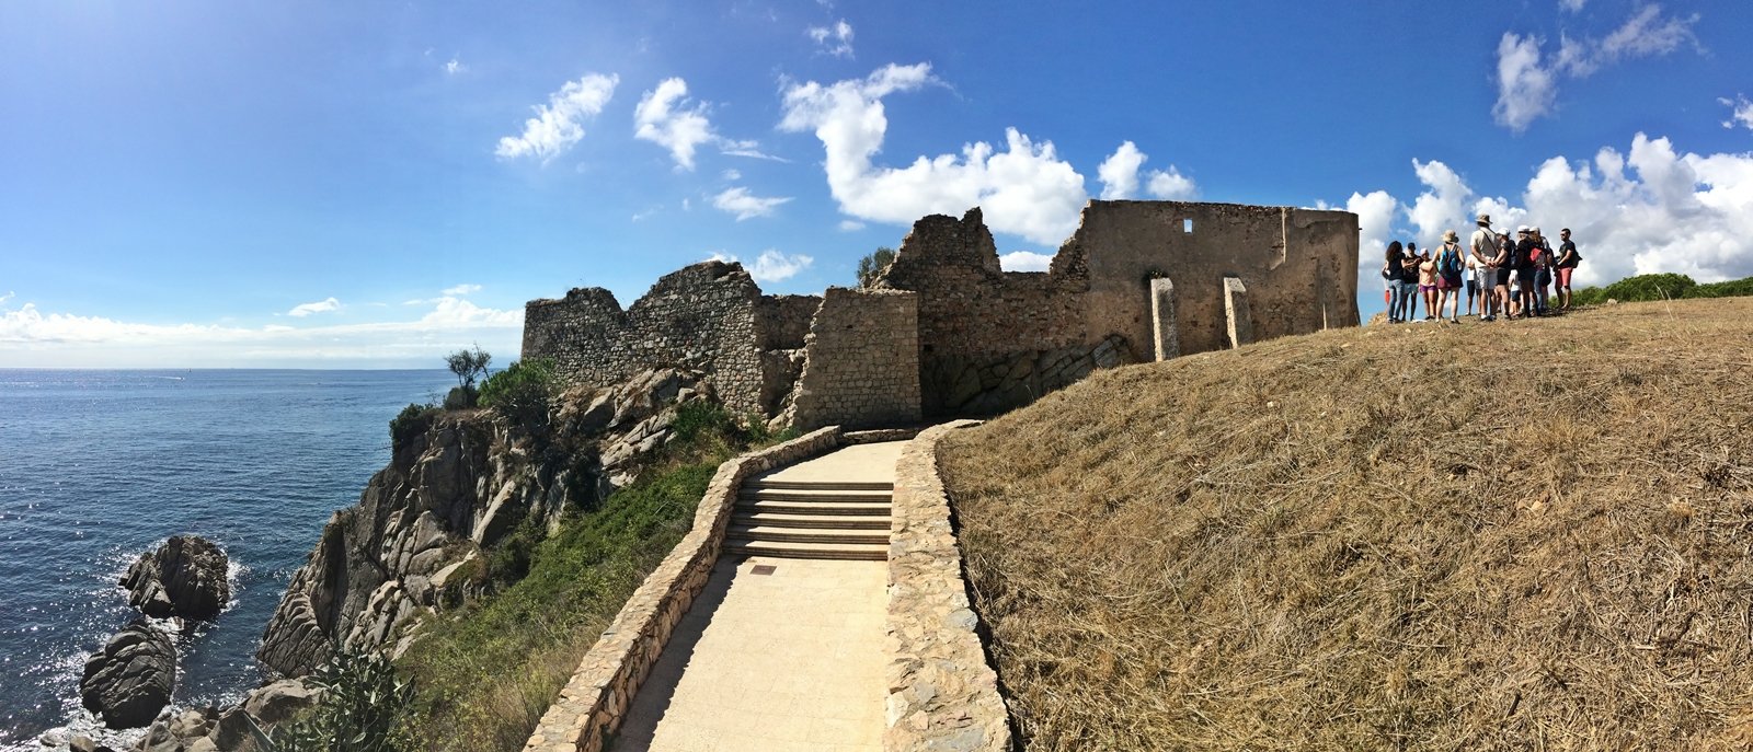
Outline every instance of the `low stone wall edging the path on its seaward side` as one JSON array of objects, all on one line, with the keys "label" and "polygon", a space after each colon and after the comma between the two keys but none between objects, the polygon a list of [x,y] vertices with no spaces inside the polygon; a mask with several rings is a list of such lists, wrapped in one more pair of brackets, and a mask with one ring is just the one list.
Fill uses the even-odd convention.
[{"label": "low stone wall edging the path on its seaward side", "polygon": [[621,614],[542,715],[524,750],[601,752],[603,741],[621,727],[633,696],[670,642],[670,631],[706,587],[724,545],[736,489],[750,475],[813,458],[840,443],[840,426],[829,426],[719,465],[694,512],[694,528],[621,607]]}]

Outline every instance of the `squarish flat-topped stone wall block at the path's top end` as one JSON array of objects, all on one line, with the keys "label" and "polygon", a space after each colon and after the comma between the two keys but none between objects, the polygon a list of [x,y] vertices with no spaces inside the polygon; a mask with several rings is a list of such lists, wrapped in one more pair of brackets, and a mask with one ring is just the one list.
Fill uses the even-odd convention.
[{"label": "squarish flat-topped stone wall block at the path's top end", "polygon": [[919,296],[827,287],[791,410],[805,431],[919,422]]}]

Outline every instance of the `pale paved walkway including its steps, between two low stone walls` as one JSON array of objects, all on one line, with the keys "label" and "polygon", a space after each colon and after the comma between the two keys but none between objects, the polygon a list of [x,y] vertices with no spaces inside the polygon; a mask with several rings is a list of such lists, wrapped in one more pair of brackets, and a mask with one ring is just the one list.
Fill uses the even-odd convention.
[{"label": "pale paved walkway including its steps, between two low stone walls", "polygon": [[882,750],[903,447],[855,443],[743,482],[724,554],[614,750]]}]

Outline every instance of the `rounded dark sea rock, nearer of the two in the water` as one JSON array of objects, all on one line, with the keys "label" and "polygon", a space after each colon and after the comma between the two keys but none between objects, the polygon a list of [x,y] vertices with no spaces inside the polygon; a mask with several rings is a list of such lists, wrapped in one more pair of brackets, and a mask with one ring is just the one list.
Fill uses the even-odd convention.
[{"label": "rounded dark sea rock, nearer of the two in the water", "polygon": [[177,649],[165,633],[130,626],[86,661],[79,699],[112,729],[145,726],[170,705],[177,685]]}]

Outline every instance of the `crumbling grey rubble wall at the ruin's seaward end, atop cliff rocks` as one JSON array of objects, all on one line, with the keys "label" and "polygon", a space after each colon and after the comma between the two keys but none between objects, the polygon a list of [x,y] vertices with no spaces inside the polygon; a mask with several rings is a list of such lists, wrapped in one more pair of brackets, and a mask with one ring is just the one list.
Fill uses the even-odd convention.
[{"label": "crumbling grey rubble wall at the ruin's seaward end, atop cliff rocks", "polygon": [[703,261],[668,273],[626,310],[601,287],[524,307],[522,358],[552,358],[570,384],[607,387],[652,368],[712,377],[726,407],[761,412],[761,287],[736,263]]}]

